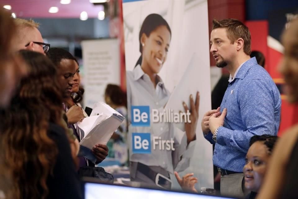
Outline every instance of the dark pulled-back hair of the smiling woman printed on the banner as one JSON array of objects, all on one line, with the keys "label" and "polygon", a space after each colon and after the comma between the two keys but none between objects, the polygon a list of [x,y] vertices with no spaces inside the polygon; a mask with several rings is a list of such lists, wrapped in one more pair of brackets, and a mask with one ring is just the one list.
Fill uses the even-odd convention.
[{"label": "dark pulled-back hair of the smiling woman printed on the banner", "polygon": [[142,63],[142,51],[143,51],[143,46],[141,44],[142,34],[144,33],[147,37],[149,37],[149,35],[151,34],[152,31],[156,30],[159,26],[163,26],[163,25],[165,25],[167,27],[167,29],[170,32],[170,35],[172,35],[172,32],[171,32],[168,22],[165,21],[165,19],[162,16],[160,16],[159,14],[150,14],[145,18],[145,20],[143,21],[141,30],[140,30],[140,34],[139,34],[139,42],[140,42],[139,45],[140,45],[141,56],[138,59],[135,67],[138,65],[141,65],[141,63]]}]

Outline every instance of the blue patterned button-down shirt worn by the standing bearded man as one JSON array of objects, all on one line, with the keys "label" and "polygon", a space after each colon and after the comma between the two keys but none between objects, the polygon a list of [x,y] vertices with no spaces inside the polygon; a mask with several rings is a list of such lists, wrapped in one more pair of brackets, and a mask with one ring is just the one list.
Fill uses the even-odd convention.
[{"label": "blue patterned button-down shirt worn by the standing bearded man", "polygon": [[[228,84],[220,111],[224,108],[227,115],[217,133],[213,164],[221,169],[243,172],[251,137],[277,135],[280,122],[280,93],[255,57],[244,62]],[[214,144],[211,132],[205,138]]]}]

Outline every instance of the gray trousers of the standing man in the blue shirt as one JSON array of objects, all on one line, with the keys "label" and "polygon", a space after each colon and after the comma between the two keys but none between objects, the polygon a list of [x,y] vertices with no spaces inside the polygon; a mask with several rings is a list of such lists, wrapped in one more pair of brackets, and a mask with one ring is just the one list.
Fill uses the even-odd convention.
[{"label": "gray trousers of the standing man in the blue shirt", "polygon": [[220,177],[220,194],[223,196],[244,198],[249,191],[244,187],[244,175],[230,174]]}]

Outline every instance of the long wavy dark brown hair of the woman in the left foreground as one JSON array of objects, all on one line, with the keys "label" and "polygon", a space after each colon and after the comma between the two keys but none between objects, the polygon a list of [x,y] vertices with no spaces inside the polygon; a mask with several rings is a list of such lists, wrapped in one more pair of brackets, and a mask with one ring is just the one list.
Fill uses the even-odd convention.
[{"label": "long wavy dark brown hair of the woman in the left foreground", "polygon": [[[43,54],[21,50],[29,67],[10,106],[0,110],[0,178],[10,175],[6,198],[45,198],[58,149],[47,135],[49,123],[63,127],[56,67]],[[5,173],[5,174],[4,174]]]}]

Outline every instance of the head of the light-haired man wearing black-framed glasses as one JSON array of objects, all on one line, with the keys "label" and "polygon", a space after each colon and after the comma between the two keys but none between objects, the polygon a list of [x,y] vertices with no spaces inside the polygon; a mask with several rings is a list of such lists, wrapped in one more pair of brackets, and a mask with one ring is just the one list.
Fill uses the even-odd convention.
[{"label": "head of the light-haired man wearing black-framed glasses", "polygon": [[43,54],[47,53],[50,44],[43,42],[43,37],[38,30],[39,23],[19,18],[14,21],[16,23],[16,34],[12,40],[12,48],[15,51],[26,49]]}]

